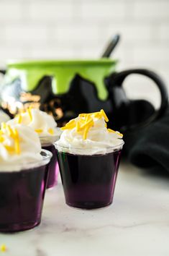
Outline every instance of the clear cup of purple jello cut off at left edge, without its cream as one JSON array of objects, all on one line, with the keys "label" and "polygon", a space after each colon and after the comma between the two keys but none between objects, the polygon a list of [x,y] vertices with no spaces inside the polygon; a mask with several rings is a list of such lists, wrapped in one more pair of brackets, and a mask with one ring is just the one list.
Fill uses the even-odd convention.
[{"label": "clear cup of purple jello cut off at left edge, without its cream", "polygon": [[12,166],[11,171],[0,171],[0,232],[24,231],[40,224],[52,154],[42,150],[41,155],[40,161],[19,164],[19,171],[12,171]]}]

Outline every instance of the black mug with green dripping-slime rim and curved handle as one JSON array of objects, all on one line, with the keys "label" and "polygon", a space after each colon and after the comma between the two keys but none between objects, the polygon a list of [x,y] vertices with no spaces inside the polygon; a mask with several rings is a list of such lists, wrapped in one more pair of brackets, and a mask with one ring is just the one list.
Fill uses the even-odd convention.
[{"label": "black mug with green dripping-slime rim and curved handle", "polygon": [[[1,108],[7,114],[14,116],[27,106],[40,107],[59,126],[79,113],[104,108],[110,127],[131,129],[157,119],[168,106],[166,87],[157,74],[147,69],[118,73],[116,60],[9,61],[1,72]],[[144,99],[127,99],[122,83],[129,74],[142,74],[155,82],[162,98],[158,111]]]}]

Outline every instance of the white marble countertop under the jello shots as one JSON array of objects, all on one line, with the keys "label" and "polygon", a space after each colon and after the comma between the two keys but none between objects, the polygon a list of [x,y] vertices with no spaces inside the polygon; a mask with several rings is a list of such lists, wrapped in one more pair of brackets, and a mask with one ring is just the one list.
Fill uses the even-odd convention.
[{"label": "white marble countertop under the jello shots", "polygon": [[122,163],[114,202],[99,210],[65,205],[62,185],[46,192],[42,223],[0,234],[6,256],[168,256],[169,179]]}]

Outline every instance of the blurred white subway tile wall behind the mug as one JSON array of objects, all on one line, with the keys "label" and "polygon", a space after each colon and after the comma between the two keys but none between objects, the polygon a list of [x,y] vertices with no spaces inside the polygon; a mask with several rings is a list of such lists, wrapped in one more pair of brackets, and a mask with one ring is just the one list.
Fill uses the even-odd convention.
[{"label": "blurred white subway tile wall behind the mug", "polygon": [[[8,59],[98,58],[115,33],[119,70],[150,68],[169,88],[168,0],[0,0],[0,67]],[[142,80],[134,84],[141,92]]]}]

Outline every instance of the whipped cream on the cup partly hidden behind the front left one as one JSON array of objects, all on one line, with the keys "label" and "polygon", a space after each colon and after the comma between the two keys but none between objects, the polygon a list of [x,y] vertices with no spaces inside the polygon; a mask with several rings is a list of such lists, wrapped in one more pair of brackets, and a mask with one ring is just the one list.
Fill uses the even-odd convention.
[{"label": "whipped cream on the cup partly hidden behind the front left one", "polygon": [[[42,132],[38,132],[42,144],[46,144],[47,142],[52,143],[57,140],[61,132],[60,128],[57,128],[57,123],[55,122],[55,119],[46,112],[40,111],[36,108],[30,109],[30,111],[32,119],[30,119],[29,112],[26,111],[20,114],[22,116],[20,123],[31,127],[35,131],[42,130]],[[17,122],[18,116],[8,121],[8,124],[16,124]],[[52,129],[53,131],[52,135],[49,132],[50,129]]]}]

